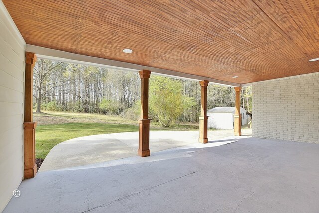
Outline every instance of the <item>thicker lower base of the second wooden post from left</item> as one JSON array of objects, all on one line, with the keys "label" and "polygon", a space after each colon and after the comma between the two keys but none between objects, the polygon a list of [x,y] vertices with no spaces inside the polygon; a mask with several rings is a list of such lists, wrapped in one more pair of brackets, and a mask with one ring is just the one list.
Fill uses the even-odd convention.
[{"label": "thicker lower base of the second wooden post from left", "polygon": [[150,156],[150,123],[151,119],[138,119],[139,121],[139,149],[141,157]]}]

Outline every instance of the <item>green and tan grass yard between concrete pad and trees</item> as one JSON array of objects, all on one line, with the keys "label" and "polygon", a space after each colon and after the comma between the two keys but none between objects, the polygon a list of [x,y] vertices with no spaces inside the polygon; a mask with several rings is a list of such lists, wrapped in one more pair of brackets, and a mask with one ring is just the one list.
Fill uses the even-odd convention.
[{"label": "green and tan grass yard between concrete pad and trees", "polygon": [[[91,113],[50,112],[33,114],[36,128],[36,158],[44,159],[58,143],[88,135],[139,131],[138,122],[117,116]],[[152,122],[151,130],[197,130],[198,124],[180,124],[170,128]]]}]

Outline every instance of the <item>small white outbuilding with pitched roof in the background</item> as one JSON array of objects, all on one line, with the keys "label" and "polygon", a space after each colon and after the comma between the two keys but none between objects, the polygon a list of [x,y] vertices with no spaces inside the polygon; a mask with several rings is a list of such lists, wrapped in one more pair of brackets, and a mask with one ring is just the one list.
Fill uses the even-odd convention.
[{"label": "small white outbuilding with pitched roof in the background", "polygon": [[[241,125],[247,124],[247,110],[240,107]],[[213,129],[233,129],[234,128],[235,107],[215,107],[207,111],[208,128]]]}]

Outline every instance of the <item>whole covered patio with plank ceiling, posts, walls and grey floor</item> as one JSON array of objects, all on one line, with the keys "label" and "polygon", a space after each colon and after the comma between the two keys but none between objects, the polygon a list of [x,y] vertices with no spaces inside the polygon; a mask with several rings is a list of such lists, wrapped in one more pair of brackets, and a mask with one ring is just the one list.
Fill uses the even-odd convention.
[{"label": "whole covered patio with plank ceiling, posts, walls and grey floor", "polygon": [[[314,0],[0,0],[0,211],[318,212],[318,17]],[[138,156],[36,175],[37,58],[138,72]],[[150,149],[151,75],[200,85],[194,143]],[[222,141],[207,132],[208,84],[236,94]]]}]

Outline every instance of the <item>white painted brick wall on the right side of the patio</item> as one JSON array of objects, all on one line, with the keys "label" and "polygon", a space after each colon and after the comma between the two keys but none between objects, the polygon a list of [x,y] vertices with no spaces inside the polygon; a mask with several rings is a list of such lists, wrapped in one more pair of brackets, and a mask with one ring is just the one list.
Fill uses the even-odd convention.
[{"label": "white painted brick wall on the right side of the patio", "polygon": [[253,137],[319,143],[319,72],[253,83]]}]

